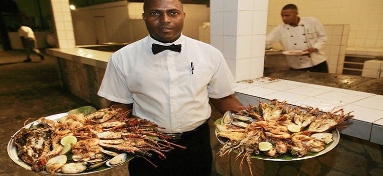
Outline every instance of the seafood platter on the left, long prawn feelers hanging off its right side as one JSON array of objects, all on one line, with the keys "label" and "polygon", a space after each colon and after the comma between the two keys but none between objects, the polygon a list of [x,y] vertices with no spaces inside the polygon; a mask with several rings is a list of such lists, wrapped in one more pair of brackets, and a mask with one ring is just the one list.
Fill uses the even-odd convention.
[{"label": "seafood platter on the left, long prawn feelers hanging off its right side", "polygon": [[87,106],[29,124],[27,120],[11,137],[8,155],[37,173],[84,175],[123,165],[134,157],[151,163],[152,155],[165,159],[164,151],[182,148],[156,130],[161,127],[130,113]]}]

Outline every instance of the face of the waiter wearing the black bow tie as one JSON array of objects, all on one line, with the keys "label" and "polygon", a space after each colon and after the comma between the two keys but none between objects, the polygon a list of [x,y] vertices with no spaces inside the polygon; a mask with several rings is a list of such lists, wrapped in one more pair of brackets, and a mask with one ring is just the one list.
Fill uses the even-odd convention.
[{"label": "face of the waiter wearing the black bow tie", "polygon": [[144,11],[142,18],[154,39],[170,43],[181,36],[186,14],[179,0],[150,0]]}]

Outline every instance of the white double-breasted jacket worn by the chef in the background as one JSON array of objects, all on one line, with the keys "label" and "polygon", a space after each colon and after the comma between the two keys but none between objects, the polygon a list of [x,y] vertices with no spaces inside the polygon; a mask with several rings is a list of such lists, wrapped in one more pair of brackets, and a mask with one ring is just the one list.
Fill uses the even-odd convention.
[{"label": "white double-breasted jacket worn by the chef in the background", "polygon": [[281,24],[266,36],[266,47],[275,42],[281,42],[285,51],[306,50],[316,48],[311,56],[288,55],[287,62],[290,68],[301,69],[317,65],[326,60],[322,48],[327,41],[326,32],[322,24],[313,17],[302,17],[298,26],[293,27]]}]

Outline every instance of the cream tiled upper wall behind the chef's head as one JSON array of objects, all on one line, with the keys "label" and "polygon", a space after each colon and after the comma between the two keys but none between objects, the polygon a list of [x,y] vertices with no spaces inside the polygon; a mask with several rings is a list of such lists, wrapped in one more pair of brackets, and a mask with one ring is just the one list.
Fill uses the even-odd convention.
[{"label": "cream tiled upper wall behind the chef's head", "polygon": [[287,3],[322,24],[350,25],[350,47],[383,48],[383,0],[270,0],[268,25],[281,23],[280,10]]}]

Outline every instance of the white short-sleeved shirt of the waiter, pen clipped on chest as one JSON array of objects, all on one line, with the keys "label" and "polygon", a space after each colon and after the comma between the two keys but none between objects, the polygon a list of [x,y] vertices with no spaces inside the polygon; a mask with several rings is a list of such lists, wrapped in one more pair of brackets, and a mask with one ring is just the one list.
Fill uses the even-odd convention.
[{"label": "white short-sleeved shirt of the waiter, pen clipped on chest", "polygon": [[[153,43],[181,44],[182,51],[153,55]],[[221,52],[211,45],[184,35],[164,44],[149,35],[110,56],[98,95],[133,103],[133,115],[165,127],[163,132],[180,133],[202,125],[211,114],[209,97],[233,94],[234,83]]]}]

